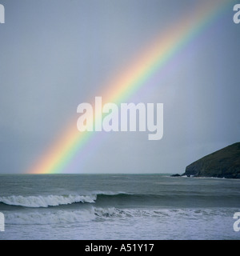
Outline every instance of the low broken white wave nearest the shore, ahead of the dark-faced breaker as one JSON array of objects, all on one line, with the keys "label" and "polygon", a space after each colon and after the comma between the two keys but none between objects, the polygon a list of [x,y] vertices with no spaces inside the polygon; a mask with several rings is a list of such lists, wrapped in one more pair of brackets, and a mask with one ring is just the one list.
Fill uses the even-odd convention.
[{"label": "low broken white wave nearest the shore, ahead of the dark-faced breaker", "polygon": [[158,221],[178,218],[190,218],[196,221],[201,219],[208,220],[216,218],[219,214],[223,217],[232,216],[237,209],[118,209],[115,207],[94,207],[88,210],[58,210],[55,212],[30,212],[6,214],[7,225],[49,225],[49,224],[73,224],[78,226],[82,222],[101,222],[109,219],[126,220],[130,218],[139,221],[149,218],[157,218]]}]

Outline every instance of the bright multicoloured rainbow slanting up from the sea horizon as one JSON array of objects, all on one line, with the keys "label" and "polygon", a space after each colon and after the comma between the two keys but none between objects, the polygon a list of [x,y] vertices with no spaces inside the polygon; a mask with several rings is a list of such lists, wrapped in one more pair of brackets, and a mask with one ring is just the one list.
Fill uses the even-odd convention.
[{"label": "bright multicoloured rainbow slanting up from the sea horizon", "polygon": [[[161,70],[174,56],[198,36],[207,26],[214,22],[232,2],[229,0],[208,1],[198,6],[194,14],[186,15],[182,21],[177,21],[172,28],[168,28],[147,47],[138,54],[138,58],[130,62],[124,70],[110,79],[106,90],[101,94],[103,102],[120,104],[130,98],[156,71]],[[94,104],[93,104],[94,105]],[[98,117],[97,117],[98,118]],[[27,170],[28,174],[58,174],[71,173],[71,160],[76,154],[83,152],[85,146],[90,143],[99,132],[79,132],[76,126],[77,120],[62,132],[50,149],[42,154],[38,162]],[[82,151],[81,151],[82,150]]]}]

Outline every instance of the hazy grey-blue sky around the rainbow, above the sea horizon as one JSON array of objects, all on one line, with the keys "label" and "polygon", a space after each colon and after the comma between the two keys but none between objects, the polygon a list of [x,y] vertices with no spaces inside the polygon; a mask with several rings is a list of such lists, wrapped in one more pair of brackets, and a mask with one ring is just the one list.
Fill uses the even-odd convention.
[{"label": "hazy grey-blue sky around the rainbow, above the sea horizon", "polygon": [[[28,173],[70,122],[77,129],[78,104],[103,96],[111,78],[200,3],[219,1],[0,0],[0,174]],[[61,172],[182,174],[239,142],[237,2],[127,99],[163,103],[161,140],[147,131],[98,132]]]}]

